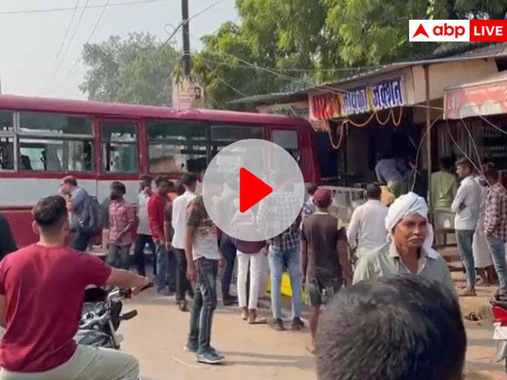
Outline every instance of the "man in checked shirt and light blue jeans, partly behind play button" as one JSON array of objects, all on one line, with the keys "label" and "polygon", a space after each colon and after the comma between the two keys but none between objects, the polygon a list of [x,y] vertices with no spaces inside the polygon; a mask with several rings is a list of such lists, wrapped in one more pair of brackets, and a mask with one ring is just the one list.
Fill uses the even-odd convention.
[{"label": "man in checked shirt and light blue jeans, partly behind play button", "polygon": [[[283,175],[276,173],[276,178],[282,178]],[[280,183],[275,188],[277,194],[274,201],[261,203],[258,209],[257,222],[258,225],[268,226],[268,229],[276,229],[283,222],[290,222],[291,210],[294,203],[297,202],[296,197],[292,194],[291,183]],[[280,190],[278,190],[280,189]],[[275,204],[276,203],[276,204]],[[301,224],[301,213],[296,220],[292,222],[290,227],[282,234],[268,240],[269,253],[268,260],[271,274],[271,307],[273,309],[273,329],[277,331],[284,330],[282,321],[282,301],[281,286],[282,274],[285,267],[289,271],[289,277],[292,289],[292,330],[299,330],[304,327],[301,321],[301,258],[299,248],[299,225]]]}]

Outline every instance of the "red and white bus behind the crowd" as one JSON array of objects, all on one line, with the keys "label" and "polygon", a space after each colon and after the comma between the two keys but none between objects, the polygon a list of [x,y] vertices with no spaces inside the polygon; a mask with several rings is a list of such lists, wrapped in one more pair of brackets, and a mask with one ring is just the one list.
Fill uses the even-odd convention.
[{"label": "red and white bus behind the crowd", "polygon": [[313,129],[301,118],[0,95],[0,213],[19,246],[35,241],[30,210],[73,175],[102,201],[112,181],[135,203],[141,174],[201,173],[220,148],[267,139],[320,178]]}]

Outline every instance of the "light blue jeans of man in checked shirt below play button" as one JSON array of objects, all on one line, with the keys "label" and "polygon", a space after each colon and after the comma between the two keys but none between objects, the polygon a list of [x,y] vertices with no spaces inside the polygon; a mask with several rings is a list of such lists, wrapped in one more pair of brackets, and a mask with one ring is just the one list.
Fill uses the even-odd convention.
[{"label": "light blue jeans of man in checked shirt below play button", "polygon": [[270,246],[269,264],[271,272],[271,308],[273,318],[282,318],[282,274],[284,268],[289,270],[292,289],[292,317],[301,317],[301,263],[299,248],[279,249]]}]

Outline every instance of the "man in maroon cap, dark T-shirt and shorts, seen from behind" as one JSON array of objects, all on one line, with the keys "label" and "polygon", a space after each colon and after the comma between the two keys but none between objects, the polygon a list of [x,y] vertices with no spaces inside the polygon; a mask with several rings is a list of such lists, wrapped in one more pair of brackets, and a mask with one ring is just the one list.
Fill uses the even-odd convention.
[{"label": "man in maroon cap, dark T-shirt and shorts, seen from behind", "polygon": [[318,189],[313,194],[316,211],[301,223],[301,273],[311,306],[311,346],[315,352],[320,305],[325,305],[342,286],[352,282],[352,268],[344,228],[327,213],[332,203],[331,192]]}]

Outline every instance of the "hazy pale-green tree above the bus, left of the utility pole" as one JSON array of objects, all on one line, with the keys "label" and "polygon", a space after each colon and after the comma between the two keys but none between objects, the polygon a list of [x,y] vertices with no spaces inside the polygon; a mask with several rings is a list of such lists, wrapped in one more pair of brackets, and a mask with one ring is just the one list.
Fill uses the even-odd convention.
[{"label": "hazy pale-green tree above the bus, left of the utility pole", "polygon": [[89,100],[170,106],[171,78],[180,56],[172,45],[147,33],[86,44],[82,59],[89,70],[80,90]]}]

